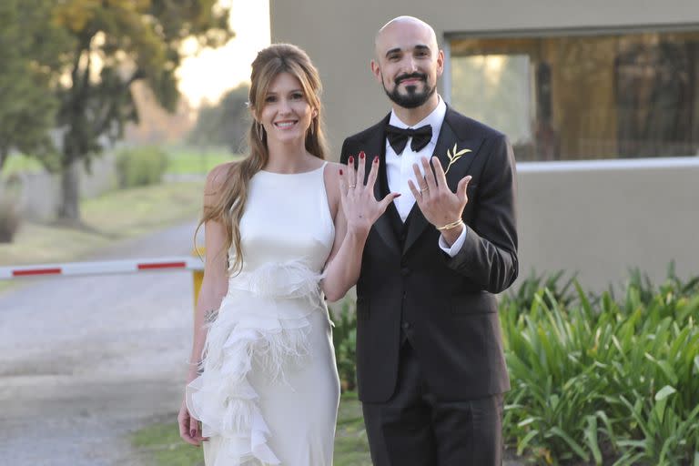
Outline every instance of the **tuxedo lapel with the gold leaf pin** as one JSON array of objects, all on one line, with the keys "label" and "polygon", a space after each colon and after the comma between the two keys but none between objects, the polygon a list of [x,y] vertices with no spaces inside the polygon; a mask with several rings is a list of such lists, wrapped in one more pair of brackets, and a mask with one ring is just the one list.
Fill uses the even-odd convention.
[{"label": "tuxedo lapel with the gold leaf pin", "polygon": [[[440,136],[437,137],[437,144],[432,154],[432,157],[438,157],[440,159],[441,167],[447,171],[447,167],[449,167],[450,163],[450,157],[447,152],[449,151],[450,155],[453,157],[451,153],[453,152],[454,145],[457,147],[455,153],[460,152],[462,149],[471,150],[470,152],[463,153],[458,160],[454,159],[454,163],[451,164],[451,167],[447,171],[447,185],[451,189],[451,192],[456,191],[459,181],[461,181],[462,177],[465,177],[473,161],[473,156],[478,151],[478,148],[481,147],[482,143],[481,137],[472,138],[466,135],[461,135],[461,137],[457,135],[453,126],[454,119],[457,116],[458,114],[448,106],[447,113],[444,116],[444,122],[441,124]],[[403,254],[410,249],[415,241],[420,238],[425,228],[430,225],[425,216],[422,215],[417,201],[410,210],[408,220],[410,223],[408,225],[408,234],[405,239],[405,244],[403,245]]]}]

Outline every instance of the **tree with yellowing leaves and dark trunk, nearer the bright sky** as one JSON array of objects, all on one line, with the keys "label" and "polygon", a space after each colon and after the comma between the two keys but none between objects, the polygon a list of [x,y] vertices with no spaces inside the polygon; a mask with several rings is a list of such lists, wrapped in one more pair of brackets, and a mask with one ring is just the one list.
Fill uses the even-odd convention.
[{"label": "tree with yellowing leaves and dark trunk, nearer the bright sky", "polygon": [[62,131],[62,202],[58,217],[79,222],[76,167],[100,153],[138,121],[131,86],[145,83],[172,111],[175,73],[188,38],[222,46],[233,35],[228,8],[217,0],[62,0],[55,20],[73,37],[66,85],[58,93]]}]

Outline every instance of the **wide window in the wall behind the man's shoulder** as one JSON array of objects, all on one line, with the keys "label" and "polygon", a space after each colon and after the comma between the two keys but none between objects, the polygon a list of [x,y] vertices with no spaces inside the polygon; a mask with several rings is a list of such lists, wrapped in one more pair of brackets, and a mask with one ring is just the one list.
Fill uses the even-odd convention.
[{"label": "wide window in the wall behind the man's shoulder", "polygon": [[699,155],[699,32],[453,37],[451,103],[518,160]]}]

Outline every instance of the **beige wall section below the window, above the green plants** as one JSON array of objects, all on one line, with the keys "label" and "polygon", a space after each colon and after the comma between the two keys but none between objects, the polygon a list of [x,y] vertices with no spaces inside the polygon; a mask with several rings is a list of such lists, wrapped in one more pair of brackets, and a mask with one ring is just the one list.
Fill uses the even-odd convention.
[{"label": "beige wall section below the window, above the green plants", "polygon": [[632,267],[659,282],[671,260],[699,275],[699,157],[629,164],[519,167],[521,276],[577,271],[600,290]]}]

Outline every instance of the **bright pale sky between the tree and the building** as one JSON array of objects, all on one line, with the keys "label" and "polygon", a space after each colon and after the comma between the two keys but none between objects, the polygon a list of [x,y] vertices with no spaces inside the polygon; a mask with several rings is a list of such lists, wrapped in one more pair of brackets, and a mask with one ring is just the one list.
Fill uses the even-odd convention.
[{"label": "bright pale sky between the tree and the building", "polygon": [[178,71],[179,89],[192,106],[216,102],[228,89],[249,82],[252,60],[258,50],[269,45],[268,0],[220,3],[231,5],[230,25],[236,36],[226,46],[203,50],[183,61]]}]

